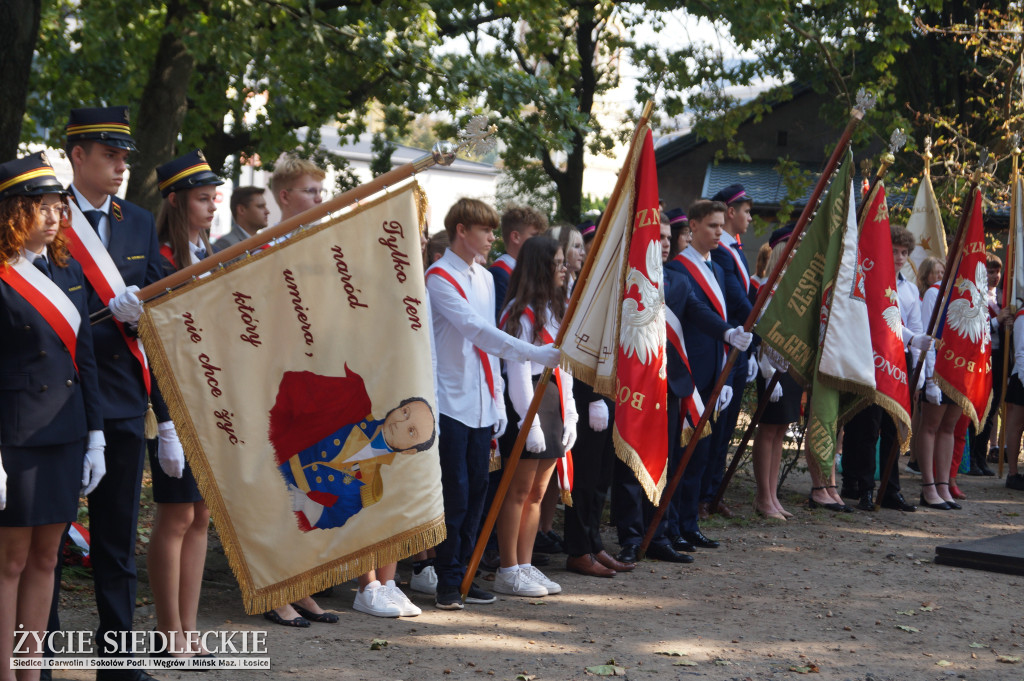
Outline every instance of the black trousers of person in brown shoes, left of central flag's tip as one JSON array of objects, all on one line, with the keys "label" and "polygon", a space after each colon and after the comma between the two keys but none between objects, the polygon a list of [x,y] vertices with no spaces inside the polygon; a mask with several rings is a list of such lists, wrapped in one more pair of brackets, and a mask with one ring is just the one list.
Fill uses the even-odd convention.
[{"label": "black trousers of person in brown shoes, left of central flag's tip", "polygon": [[606,399],[608,427],[598,432],[590,427],[590,405],[577,402],[580,423],[572,445],[572,506],[565,507],[565,553],[582,556],[604,550],[601,512],[611,483],[615,445],[611,437],[615,406]]}]

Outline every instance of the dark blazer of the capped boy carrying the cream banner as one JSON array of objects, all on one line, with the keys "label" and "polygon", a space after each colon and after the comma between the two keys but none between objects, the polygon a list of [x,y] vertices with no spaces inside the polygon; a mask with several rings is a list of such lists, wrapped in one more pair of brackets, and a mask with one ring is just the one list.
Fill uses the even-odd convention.
[{"label": "dark blazer of the capped boy carrying the cream banner", "polygon": [[[73,194],[72,197],[75,195]],[[118,217],[120,215],[120,218]],[[150,211],[123,199],[111,201],[108,215],[111,241],[106,252],[126,286],[144,288],[163,278],[157,226]],[[106,307],[89,289],[89,311]],[[142,368],[128,350],[113,320],[92,327],[96,365],[99,367],[99,403],[104,419],[132,419],[145,414],[148,397]],[[156,392],[156,381],[153,382]],[[154,402],[155,407],[157,402]],[[162,410],[158,410],[162,411]],[[158,419],[162,415],[158,413]],[[166,419],[164,419],[166,420]]]}]

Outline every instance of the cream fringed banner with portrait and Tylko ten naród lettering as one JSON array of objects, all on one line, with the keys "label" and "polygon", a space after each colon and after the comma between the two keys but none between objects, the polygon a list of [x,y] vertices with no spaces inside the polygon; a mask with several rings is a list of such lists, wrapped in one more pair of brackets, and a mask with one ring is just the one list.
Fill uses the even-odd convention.
[{"label": "cream fringed banner with portrait and Tylko ten nar\u00f3d lettering", "polygon": [[415,183],[145,306],[246,611],[444,537]]}]

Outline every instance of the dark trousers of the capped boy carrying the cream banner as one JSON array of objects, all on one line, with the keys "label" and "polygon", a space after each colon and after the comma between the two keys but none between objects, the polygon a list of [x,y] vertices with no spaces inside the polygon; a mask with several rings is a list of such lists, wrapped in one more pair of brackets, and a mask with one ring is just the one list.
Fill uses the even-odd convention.
[{"label": "dark trousers of the capped boy carrying the cream banner", "polygon": [[[126,651],[104,646],[103,637],[106,632],[130,632],[135,614],[135,538],[145,452],[143,428],[142,417],[103,422],[106,474],[89,495],[89,557],[92,560],[92,581],[99,613],[96,649],[100,655],[127,654]],[[57,613],[61,573],[59,558],[60,556],[54,576],[54,598],[47,625],[49,631],[60,630]]]}]

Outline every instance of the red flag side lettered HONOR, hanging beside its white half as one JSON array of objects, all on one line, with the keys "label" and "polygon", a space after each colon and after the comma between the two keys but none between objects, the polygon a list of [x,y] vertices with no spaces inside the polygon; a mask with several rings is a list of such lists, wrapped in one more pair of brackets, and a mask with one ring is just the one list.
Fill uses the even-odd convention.
[{"label": "red flag side lettered HONOR, hanging beside its white half", "polygon": [[903,351],[903,321],[896,295],[891,233],[886,190],[879,182],[867,198],[867,208],[861,217],[857,274],[858,279],[862,278],[859,286],[863,286],[871,333],[874,360],[872,400],[900,426],[900,441],[905,445],[910,428],[910,388]]}]

